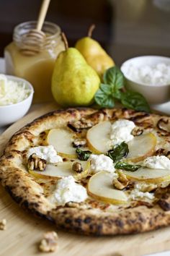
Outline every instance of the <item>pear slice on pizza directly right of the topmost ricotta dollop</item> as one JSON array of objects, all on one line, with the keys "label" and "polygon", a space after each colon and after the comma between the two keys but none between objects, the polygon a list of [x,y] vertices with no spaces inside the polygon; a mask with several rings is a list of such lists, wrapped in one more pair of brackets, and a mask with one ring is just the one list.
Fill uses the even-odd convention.
[{"label": "pear slice on pizza directly right of the topmost ricotta dollop", "polygon": [[137,163],[146,157],[153,155],[156,147],[156,136],[153,133],[134,137],[128,142],[129,153],[126,159]]}]

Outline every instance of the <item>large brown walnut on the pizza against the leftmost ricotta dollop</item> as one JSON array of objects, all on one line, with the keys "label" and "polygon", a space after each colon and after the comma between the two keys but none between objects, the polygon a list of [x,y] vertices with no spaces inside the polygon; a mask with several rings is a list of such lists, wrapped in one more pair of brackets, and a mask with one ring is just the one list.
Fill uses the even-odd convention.
[{"label": "large brown walnut on the pizza against the leftmost ricotta dollop", "polygon": [[28,158],[27,167],[30,170],[44,171],[46,163],[47,161],[45,159],[39,158],[35,153],[33,153]]}]

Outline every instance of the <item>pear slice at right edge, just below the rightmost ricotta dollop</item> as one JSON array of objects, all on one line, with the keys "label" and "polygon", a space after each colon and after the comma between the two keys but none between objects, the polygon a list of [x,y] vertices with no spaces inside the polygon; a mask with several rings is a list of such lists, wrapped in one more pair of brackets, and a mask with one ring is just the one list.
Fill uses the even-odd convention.
[{"label": "pear slice at right edge, just below the rightmost ricotta dollop", "polygon": [[128,179],[159,183],[170,180],[170,170],[141,167],[138,171],[123,171]]}]

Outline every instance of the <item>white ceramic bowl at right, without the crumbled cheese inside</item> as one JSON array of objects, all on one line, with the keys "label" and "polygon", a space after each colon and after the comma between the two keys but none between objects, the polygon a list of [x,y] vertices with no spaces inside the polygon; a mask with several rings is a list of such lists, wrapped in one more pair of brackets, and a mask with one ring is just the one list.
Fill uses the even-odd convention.
[{"label": "white ceramic bowl at right, without the crumbled cheese inside", "polygon": [[[126,78],[127,88],[130,90],[138,91],[145,96],[146,100],[150,104],[164,103],[170,100],[170,84],[168,85],[149,85],[143,82],[136,82],[132,77],[129,77],[125,72],[125,65],[133,64],[136,67],[141,66],[155,66],[156,64],[169,64],[170,58],[164,56],[138,56],[133,59],[128,59],[125,61],[120,69]],[[123,71],[124,70],[124,71]]]}]

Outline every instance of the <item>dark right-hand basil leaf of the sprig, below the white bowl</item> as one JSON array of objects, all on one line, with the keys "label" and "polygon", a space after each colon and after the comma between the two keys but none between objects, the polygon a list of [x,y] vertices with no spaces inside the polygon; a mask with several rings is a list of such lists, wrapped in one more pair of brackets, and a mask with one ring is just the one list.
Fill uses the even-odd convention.
[{"label": "dark right-hand basil leaf of the sprig, below the white bowl", "polygon": [[151,112],[146,99],[140,93],[128,90],[121,95],[122,105],[137,111]]}]

